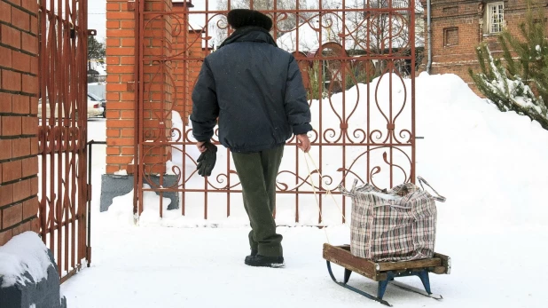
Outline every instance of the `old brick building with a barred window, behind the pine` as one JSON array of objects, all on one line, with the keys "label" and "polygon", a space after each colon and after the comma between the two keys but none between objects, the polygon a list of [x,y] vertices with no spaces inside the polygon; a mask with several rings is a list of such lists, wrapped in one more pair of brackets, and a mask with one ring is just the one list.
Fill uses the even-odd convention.
[{"label": "old brick building with a barred window, behind the pine", "polygon": [[[525,20],[527,0],[430,0],[432,63],[431,74],[452,73],[459,75],[466,83],[472,83],[468,67],[478,70],[475,48],[488,43],[494,55],[500,54],[497,36],[503,28],[513,34]],[[542,7],[548,16],[548,2]],[[427,24],[427,1],[421,0],[425,8]],[[428,36],[428,31],[425,31]],[[428,38],[425,39],[425,54]],[[427,67],[425,56],[423,67]]]}]

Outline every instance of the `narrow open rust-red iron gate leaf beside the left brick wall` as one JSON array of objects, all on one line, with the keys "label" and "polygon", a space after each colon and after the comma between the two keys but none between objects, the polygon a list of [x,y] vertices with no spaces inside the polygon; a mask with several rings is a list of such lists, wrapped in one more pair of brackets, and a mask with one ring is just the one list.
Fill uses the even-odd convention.
[{"label": "narrow open rust-red iron gate leaf beside the left brick wall", "polygon": [[87,0],[40,0],[41,235],[61,281],[90,264],[87,182]]}]

